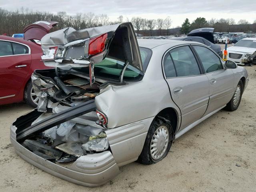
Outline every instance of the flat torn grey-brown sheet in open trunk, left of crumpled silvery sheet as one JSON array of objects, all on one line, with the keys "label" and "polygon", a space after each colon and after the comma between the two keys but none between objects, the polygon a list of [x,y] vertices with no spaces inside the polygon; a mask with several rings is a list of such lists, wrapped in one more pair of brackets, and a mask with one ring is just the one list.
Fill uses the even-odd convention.
[{"label": "flat torn grey-brown sheet in open trunk, left of crumpled silvery sheet", "polygon": [[84,154],[82,150],[82,143],[78,142],[66,142],[56,146],[55,148],[76,157],[80,157]]}]

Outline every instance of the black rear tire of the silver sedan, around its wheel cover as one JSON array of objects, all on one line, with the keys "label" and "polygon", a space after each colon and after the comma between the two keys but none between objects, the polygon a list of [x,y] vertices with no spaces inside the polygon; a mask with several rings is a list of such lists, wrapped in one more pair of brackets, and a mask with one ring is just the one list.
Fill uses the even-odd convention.
[{"label": "black rear tire of the silver sedan, around its wheel cover", "polygon": [[[156,130],[160,126],[165,126],[168,129],[169,140],[168,140],[168,145],[165,149],[164,154],[162,154],[162,156],[159,159],[154,160],[150,154],[150,143],[151,143],[151,140],[152,140]],[[173,134],[173,130],[172,130],[170,121],[166,120],[165,118],[162,118],[160,116],[156,116],[156,118],[154,118],[153,122],[151,123],[151,125],[149,127],[148,134],[146,136],[146,140],[145,140],[142,152],[138,158],[138,162],[140,162],[141,164],[149,165],[149,164],[153,164],[153,163],[157,163],[157,162],[161,161],[168,154],[168,152],[172,146],[173,138],[174,138],[174,134]]]}]

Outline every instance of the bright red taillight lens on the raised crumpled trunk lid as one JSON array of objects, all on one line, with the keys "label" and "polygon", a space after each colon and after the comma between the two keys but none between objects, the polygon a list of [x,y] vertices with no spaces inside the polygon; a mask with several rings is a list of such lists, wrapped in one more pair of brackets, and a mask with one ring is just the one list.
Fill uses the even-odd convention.
[{"label": "bright red taillight lens on the raised crumpled trunk lid", "polygon": [[100,36],[94,37],[89,40],[89,55],[95,55],[102,52],[105,49],[105,43],[107,40],[108,34],[102,34]]}]

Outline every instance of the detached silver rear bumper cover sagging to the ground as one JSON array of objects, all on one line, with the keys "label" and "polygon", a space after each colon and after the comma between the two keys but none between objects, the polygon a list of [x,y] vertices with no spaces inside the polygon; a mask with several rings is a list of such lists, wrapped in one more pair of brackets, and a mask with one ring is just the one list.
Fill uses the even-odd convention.
[{"label": "detached silver rear bumper cover sagging to the ground", "polygon": [[76,184],[100,186],[119,174],[119,168],[110,151],[78,158],[69,168],[41,158],[16,141],[16,126],[10,127],[10,140],[16,153],[34,166]]}]

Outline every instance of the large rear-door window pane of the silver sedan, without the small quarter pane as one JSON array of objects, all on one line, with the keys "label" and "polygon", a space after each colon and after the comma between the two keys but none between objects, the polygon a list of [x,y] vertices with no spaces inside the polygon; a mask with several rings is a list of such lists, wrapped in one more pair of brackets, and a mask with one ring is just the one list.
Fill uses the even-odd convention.
[{"label": "large rear-door window pane of the silver sedan, without the small quarter pane", "polygon": [[200,70],[189,46],[182,46],[170,51],[178,77],[199,75]]}]

